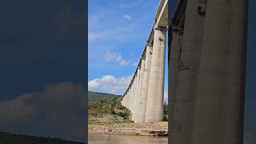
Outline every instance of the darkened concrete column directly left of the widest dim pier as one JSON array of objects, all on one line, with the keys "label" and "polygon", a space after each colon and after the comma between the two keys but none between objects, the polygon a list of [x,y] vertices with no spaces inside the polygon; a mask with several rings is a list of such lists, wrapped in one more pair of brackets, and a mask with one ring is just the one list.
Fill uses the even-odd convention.
[{"label": "darkened concrete column directly left of the widest dim pier", "polygon": [[[180,52],[178,54],[177,84],[171,86],[171,92],[174,95],[170,95],[170,98],[174,102],[170,105],[174,106],[174,109],[171,111],[173,117],[170,119],[170,125],[172,126],[170,128],[172,130],[170,143],[175,144],[190,143],[192,138],[194,102],[197,97],[198,70],[205,22],[205,15],[198,13],[199,6],[205,6],[205,1],[187,0],[182,46],[179,47]],[[173,36],[173,42],[177,41],[178,39],[175,37],[178,37],[178,35],[174,34]],[[175,45],[175,42],[173,44]],[[173,54],[171,56],[174,59],[176,58]],[[177,70],[177,67],[171,67],[170,69]],[[175,81],[177,76],[171,75],[171,77]]]}]

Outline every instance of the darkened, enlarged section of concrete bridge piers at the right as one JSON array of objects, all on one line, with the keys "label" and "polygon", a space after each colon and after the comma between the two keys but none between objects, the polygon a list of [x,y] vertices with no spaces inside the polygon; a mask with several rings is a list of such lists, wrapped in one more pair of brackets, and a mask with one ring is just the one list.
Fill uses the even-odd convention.
[{"label": "darkened, enlarged section of concrete bridge piers at the right", "polygon": [[169,45],[170,143],[242,144],[247,3],[176,3]]}]

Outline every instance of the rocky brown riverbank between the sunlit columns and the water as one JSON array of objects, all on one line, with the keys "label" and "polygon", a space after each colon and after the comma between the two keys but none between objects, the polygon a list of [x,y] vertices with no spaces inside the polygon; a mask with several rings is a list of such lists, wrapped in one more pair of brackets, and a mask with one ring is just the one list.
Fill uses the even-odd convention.
[{"label": "rocky brown riverbank between the sunlit columns and the water", "polygon": [[121,123],[108,126],[89,125],[92,134],[167,136],[168,122]]}]

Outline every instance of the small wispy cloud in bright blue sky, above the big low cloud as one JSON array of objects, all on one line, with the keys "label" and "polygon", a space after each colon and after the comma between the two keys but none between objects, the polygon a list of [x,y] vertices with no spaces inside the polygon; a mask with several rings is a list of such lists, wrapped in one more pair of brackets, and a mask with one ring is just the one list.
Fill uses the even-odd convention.
[{"label": "small wispy cloud in bright blue sky, above the big low cloud", "polygon": [[120,66],[127,66],[129,64],[129,62],[122,58],[121,54],[112,53],[110,51],[106,52],[104,59],[106,62],[118,62]]}]

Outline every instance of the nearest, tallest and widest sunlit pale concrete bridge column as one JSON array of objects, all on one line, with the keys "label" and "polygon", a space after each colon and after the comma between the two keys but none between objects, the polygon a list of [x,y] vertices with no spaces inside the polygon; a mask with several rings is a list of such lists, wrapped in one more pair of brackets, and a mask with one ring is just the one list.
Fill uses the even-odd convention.
[{"label": "nearest, tallest and widest sunlit pale concrete bridge column", "polygon": [[162,121],[165,76],[166,28],[155,28],[153,54],[150,66],[149,91],[145,122]]}]

